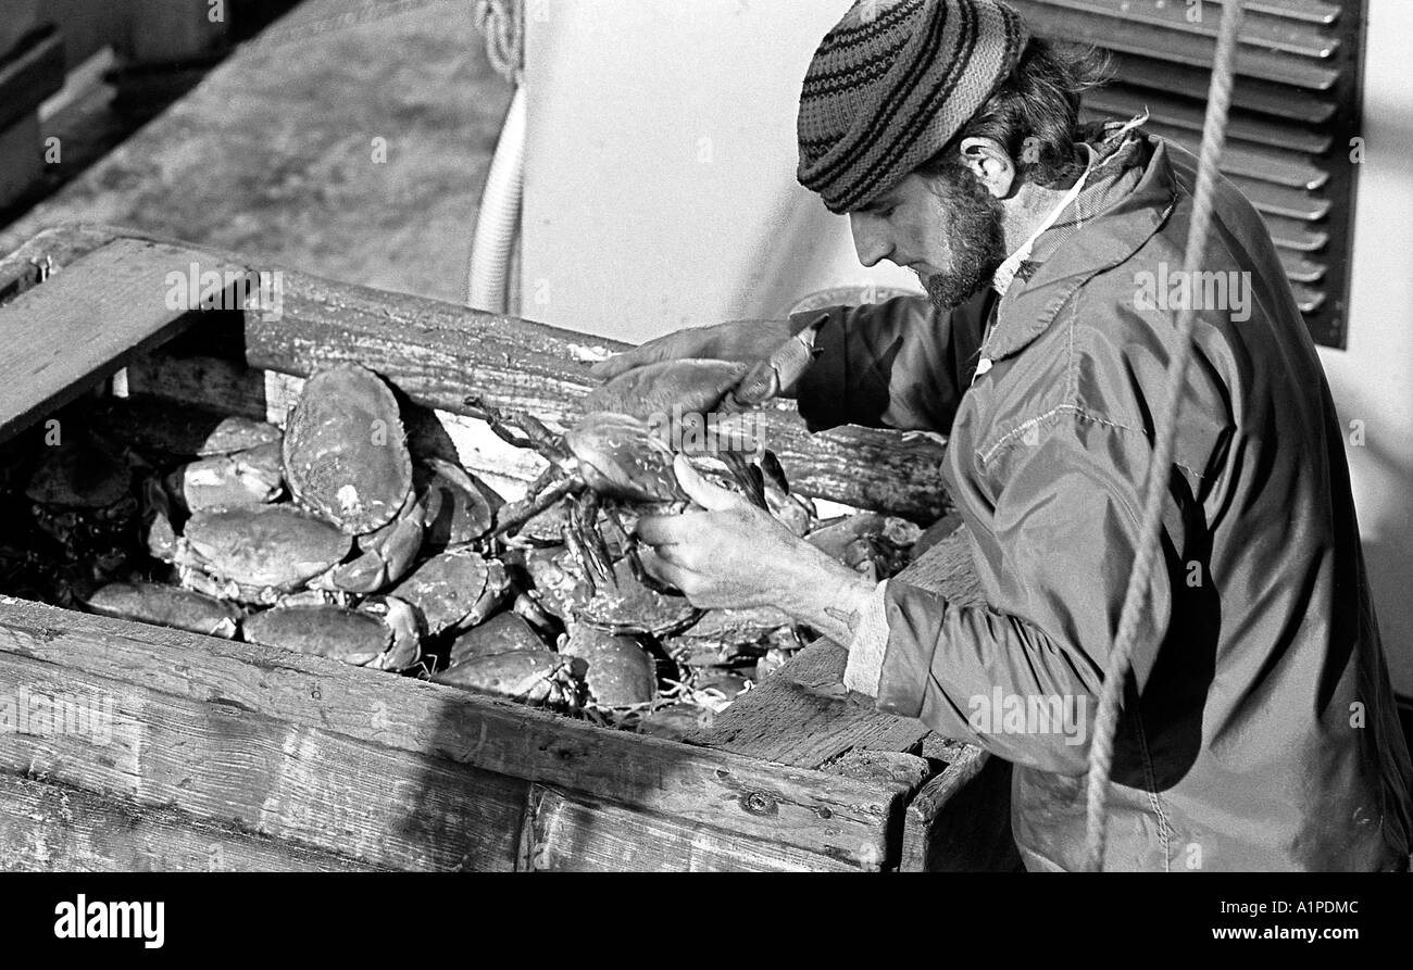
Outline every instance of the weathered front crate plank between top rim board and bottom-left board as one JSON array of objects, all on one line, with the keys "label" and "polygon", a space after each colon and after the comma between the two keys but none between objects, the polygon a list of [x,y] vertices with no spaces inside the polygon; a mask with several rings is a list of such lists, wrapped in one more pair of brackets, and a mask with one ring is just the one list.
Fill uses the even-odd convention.
[{"label": "weathered front crate plank between top rim board and bottom-left board", "polygon": [[[380,868],[514,866],[521,781],[285,723],[229,697],[161,693],[141,671],[133,678],[0,652],[0,696],[11,700],[0,767]],[[376,721],[376,710],[363,717]]]}]

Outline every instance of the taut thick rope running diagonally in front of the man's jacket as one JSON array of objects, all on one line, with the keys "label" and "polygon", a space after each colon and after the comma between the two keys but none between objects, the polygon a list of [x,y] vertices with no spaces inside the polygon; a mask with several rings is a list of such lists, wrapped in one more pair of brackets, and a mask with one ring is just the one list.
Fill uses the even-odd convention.
[{"label": "taut thick rope running diagonally in front of the man's jacket", "polygon": [[[1207,97],[1207,120],[1202,126],[1202,147],[1197,168],[1197,191],[1193,200],[1193,223],[1187,232],[1187,250],[1183,257],[1187,278],[1193,278],[1202,258],[1204,243],[1212,222],[1212,208],[1217,193],[1217,165],[1221,161],[1226,140],[1226,113],[1231,107],[1232,83],[1236,75],[1236,40],[1242,23],[1241,0],[1224,0],[1221,34],[1217,40],[1217,59],[1212,62],[1212,85]],[[1183,388],[1187,384],[1187,367],[1193,357],[1193,328],[1197,311],[1188,305],[1177,318],[1176,346],[1167,367],[1167,400],[1156,428],[1153,459],[1149,463],[1147,490],[1143,500],[1143,521],[1139,528],[1139,553],[1129,576],[1129,587],[1123,596],[1123,613],[1119,616],[1119,633],[1109,652],[1109,671],[1104,678],[1104,692],[1099,695],[1099,710],[1095,716],[1094,741],[1089,746],[1088,777],[1088,839],[1085,847],[1085,870],[1096,873],[1104,868],[1104,847],[1106,839],[1105,795],[1109,772],[1113,768],[1113,737],[1123,709],[1123,683],[1128,681],[1129,662],[1133,657],[1133,642],[1137,638],[1139,620],[1147,609],[1149,579],[1153,575],[1160,551],[1159,528],[1163,517],[1163,503],[1169,484],[1169,467],[1173,463],[1173,445],[1177,432],[1177,415],[1183,405]]]}]

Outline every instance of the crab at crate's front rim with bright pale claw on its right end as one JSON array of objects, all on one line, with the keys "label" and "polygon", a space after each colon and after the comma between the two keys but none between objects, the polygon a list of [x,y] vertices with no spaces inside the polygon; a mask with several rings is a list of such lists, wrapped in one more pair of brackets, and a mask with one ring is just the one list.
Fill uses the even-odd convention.
[{"label": "crab at crate's front rim with bright pale claw on its right end", "polygon": [[242,633],[253,644],[394,671],[417,661],[415,630],[398,628],[410,616],[396,607],[380,614],[363,607],[284,606],[246,617]]}]

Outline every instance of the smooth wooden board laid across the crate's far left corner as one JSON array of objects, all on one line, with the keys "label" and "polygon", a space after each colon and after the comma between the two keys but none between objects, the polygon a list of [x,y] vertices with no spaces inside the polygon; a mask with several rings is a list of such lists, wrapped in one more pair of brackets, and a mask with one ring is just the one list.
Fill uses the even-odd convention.
[{"label": "smooth wooden board laid across the crate's far left corner", "polygon": [[[236,263],[140,240],[113,240],[0,306],[0,441],[52,412],[195,319],[168,309],[167,274],[243,280]],[[232,299],[230,287],[222,301]],[[192,298],[199,294],[195,294]]]}]

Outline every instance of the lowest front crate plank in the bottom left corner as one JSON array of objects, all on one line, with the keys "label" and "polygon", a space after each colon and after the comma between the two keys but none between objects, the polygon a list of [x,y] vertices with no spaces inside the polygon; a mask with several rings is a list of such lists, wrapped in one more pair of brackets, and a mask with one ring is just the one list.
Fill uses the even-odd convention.
[{"label": "lowest front crate plank in the bottom left corner", "polygon": [[7,873],[345,873],[336,853],[236,832],[174,809],[110,801],[0,774],[0,871]]}]

